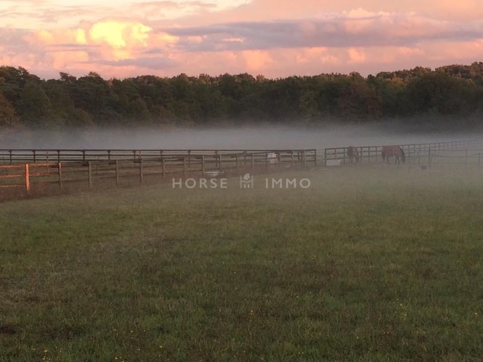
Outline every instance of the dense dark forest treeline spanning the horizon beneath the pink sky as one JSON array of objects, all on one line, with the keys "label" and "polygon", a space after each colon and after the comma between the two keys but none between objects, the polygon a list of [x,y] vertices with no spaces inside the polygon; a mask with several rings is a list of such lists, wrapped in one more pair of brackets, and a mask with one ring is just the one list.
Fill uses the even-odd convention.
[{"label": "dense dark forest treeline spanning the horizon beneath the pink sky", "polygon": [[[0,127],[321,124],[398,119],[478,125],[483,63],[377,75],[320,74],[267,79],[250,74],[172,78],[40,79],[0,67]],[[445,121],[447,122],[447,121]]]}]

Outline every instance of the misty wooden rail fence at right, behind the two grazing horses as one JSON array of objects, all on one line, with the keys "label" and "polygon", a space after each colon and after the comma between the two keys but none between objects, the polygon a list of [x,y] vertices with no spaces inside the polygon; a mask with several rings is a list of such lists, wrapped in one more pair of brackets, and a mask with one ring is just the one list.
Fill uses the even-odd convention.
[{"label": "misty wooden rail fence at right, behind the two grazing horses", "polygon": [[[459,150],[469,146],[474,146],[476,141],[452,141],[452,142],[433,142],[433,143],[414,143],[403,144],[401,148],[409,158],[420,157],[428,155],[431,152],[442,150]],[[362,158],[362,162],[377,162],[382,160],[383,146],[358,146]],[[324,150],[324,162],[327,165],[331,164],[345,164],[350,162],[348,155],[348,147],[333,147]],[[334,161],[336,161],[334,163]]]}]

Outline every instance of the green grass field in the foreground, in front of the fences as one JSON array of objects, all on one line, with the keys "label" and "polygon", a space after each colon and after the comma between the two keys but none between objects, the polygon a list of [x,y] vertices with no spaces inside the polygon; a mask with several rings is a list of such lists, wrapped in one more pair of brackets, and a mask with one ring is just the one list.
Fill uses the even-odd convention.
[{"label": "green grass field in the foreground, in front of the fences", "polygon": [[483,358],[483,173],[279,176],[1,204],[0,361]]}]

